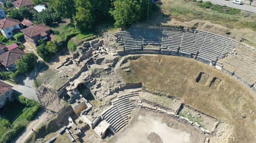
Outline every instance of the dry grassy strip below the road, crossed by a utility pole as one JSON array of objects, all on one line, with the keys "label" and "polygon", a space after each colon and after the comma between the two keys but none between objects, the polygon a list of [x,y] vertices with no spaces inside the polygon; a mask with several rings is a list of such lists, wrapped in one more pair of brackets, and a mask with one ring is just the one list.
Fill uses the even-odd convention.
[{"label": "dry grassy strip below the road, crossed by a utility pole", "polygon": [[[198,3],[193,1],[163,0],[161,10],[165,14],[182,22],[191,20],[210,21],[214,10],[214,5],[209,2],[206,4],[205,3],[206,2]],[[217,5],[214,15],[213,23],[222,25],[229,24],[234,28],[250,28],[253,31],[256,31],[255,13],[248,13],[239,9]]]}]

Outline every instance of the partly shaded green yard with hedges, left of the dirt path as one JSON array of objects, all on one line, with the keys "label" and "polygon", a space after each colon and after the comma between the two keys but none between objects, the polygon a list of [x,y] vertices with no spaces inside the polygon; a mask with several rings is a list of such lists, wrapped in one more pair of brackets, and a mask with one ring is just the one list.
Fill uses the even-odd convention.
[{"label": "partly shaded green yard with hedges, left of the dirt path", "polygon": [[[1,108],[5,110],[1,110],[3,112],[0,116],[0,143],[10,142],[41,109],[41,106],[38,106],[34,100],[20,95],[18,99],[19,101],[8,102]],[[28,119],[27,116],[30,118]]]}]

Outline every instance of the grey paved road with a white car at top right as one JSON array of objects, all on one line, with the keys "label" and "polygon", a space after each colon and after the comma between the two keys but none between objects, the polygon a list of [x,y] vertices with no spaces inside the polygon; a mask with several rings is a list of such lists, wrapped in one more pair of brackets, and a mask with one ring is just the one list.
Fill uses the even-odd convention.
[{"label": "grey paved road with a white car at top right", "polygon": [[240,9],[240,10],[256,13],[256,7],[255,6],[250,6],[250,5],[247,5],[247,4],[242,4],[242,5],[235,4],[235,3],[232,3],[232,0],[229,0],[229,1],[226,1],[226,0],[203,0],[203,1],[204,2],[205,1],[211,1],[212,3],[219,4],[219,5],[222,5],[222,6],[226,5],[226,6],[231,7],[231,8],[237,8],[237,9]]}]

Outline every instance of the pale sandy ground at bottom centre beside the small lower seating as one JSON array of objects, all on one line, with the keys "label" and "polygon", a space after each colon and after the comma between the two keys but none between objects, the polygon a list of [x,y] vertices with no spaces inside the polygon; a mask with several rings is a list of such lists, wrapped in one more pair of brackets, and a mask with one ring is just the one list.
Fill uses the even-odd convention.
[{"label": "pale sandy ground at bottom centre beside the small lower seating", "polygon": [[[133,120],[109,142],[114,143],[150,143],[150,134],[157,134],[156,141],[163,143],[197,143],[204,141],[204,135],[192,127],[172,119],[163,113],[155,113],[144,109],[135,110]],[[167,124],[171,123],[172,126]],[[155,135],[156,136],[156,135]],[[152,138],[151,138],[152,141]]]}]

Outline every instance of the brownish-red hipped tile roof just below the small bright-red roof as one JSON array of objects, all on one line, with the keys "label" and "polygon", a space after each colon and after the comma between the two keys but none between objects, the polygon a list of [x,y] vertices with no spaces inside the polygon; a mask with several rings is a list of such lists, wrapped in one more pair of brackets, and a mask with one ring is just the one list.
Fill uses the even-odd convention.
[{"label": "brownish-red hipped tile roof just below the small bright-red roof", "polygon": [[19,48],[15,48],[11,51],[5,52],[0,55],[0,62],[5,67],[17,62],[21,56],[24,56],[26,53],[21,51]]}]

